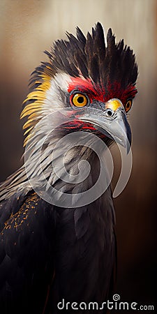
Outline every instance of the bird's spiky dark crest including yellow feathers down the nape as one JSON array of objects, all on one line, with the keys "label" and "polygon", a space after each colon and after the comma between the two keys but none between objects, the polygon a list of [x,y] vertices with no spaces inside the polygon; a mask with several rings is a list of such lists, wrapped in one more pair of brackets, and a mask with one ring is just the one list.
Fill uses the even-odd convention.
[{"label": "bird's spiky dark crest including yellow feathers down the nape", "polygon": [[30,93],[24,100],[21,118],[28,116],[24,129],[27,135],[38,120],[42,118],[46,91],[57,73],[66,73],[70,77],[84,77],[98,89],[105,91],[105,100],[135,96],[137,64],[130,47],[124,46],[124,40],[115,43],[112,30],[107,32],[107,46],[103,27],[98,22],[87,38],[77,27],[76,37],[67,33],[68,40],[57,40],[51,52],[45,52],[49,62],[41,63],[31,75]]}]

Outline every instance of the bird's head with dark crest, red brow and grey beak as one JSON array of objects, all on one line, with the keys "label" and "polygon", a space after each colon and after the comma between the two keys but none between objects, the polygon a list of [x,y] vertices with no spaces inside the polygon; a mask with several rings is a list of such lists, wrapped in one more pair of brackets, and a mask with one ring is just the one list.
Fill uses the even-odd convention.
[{"label": "bird's head with dark crest, red brow and grey beak", "polygon": [[51,52],[45,52],[49,61],[32,73],[21,114],[22,118],[27,116],[24,145],[38,121],[66,109],[70,122],[61,126],[65,133],[92,132],[107,144],[115,140],[128,150],[131,132],[127,113],[137,93],[133,51],[124,46],[124,40],[116,44],[111,29],[105,45],[99,22],[87,38],[79,28],[76,37],[67,36],[68,40],[57,40]]}]

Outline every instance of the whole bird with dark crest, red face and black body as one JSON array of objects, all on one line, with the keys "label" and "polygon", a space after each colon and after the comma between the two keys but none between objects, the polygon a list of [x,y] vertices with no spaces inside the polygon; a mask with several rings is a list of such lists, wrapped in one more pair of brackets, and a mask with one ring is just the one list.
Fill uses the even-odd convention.
[{"label": "whole bird with dark crest, red face and black body", "polygon": [[24,164],[0,187],[1,314],[102,313],[96,306],[114,289],[115,213],[103,154],[114,142],[130,149],[137,63],[100,22],[87,36],[78,27],[66,35],[31,74]]}]

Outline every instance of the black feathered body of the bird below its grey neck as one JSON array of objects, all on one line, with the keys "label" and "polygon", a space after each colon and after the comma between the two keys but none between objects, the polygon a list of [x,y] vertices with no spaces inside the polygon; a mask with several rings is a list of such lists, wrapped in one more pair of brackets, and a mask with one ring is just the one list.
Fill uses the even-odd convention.
[{"label": "black feathered body of the bird below its grey neck", "polygon": [[78,209],[53,207],[32,191],[2,202],[1,211],[10,211],[1,232],[1,314],[54,314],[62,299],[101,304],[110,296],[116,264],[110,189]]}]

